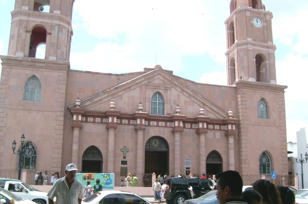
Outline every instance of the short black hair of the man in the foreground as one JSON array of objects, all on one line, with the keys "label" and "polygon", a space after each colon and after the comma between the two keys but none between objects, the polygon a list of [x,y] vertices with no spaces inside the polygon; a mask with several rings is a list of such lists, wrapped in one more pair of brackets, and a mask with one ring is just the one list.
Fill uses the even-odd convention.
[{"label": "short black hair of the man in the foreground", "polygon": [[241,196],[243,188],[243,180],[241,175],[237,171],[224,171],[216,175],[217,184],[221,186],[221,189],[225,189],[229,186],[231,189],[231,195]]}]

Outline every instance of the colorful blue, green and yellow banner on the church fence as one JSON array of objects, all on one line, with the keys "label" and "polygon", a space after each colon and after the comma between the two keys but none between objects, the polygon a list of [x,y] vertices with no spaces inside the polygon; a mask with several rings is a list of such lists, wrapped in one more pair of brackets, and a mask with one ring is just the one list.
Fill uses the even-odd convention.
[{"label": "colorful blue, green and yellow banner on the church fence", "polygon": [[115,174],[98,174],[98,173],[77,173],[76,179],[82,182],[83,187],[90,181],[93,187],[96,184],[96,179],[100,179],[103,189],[113,189],[115,186]]}]

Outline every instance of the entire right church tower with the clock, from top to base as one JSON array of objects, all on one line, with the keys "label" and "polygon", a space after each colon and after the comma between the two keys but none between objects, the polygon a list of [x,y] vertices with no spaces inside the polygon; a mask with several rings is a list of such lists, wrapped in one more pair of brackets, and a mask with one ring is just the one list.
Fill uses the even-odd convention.
[{"label": "entire right church tower with the clock, from top to base", "polygon": [[[230,16],[225,21],[227,82],[236,87],[237,170],[241,174],[269,174],[274,170],[287,174],[288,170],[287,86],[276,83],[272,18],[261,0],[231,0]],[[256,161],[258,166],[253,165]]]}]

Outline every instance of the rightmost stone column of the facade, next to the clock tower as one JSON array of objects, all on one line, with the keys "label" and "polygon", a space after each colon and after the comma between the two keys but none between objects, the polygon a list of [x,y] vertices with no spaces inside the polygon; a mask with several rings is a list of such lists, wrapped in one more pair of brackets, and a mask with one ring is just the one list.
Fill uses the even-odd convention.
[{"label": "rightmost stone column of the facade, next to the clock tower", "polygon": [[227,126],[225,136],[228,136],[229,170],[235,170],[234,137],[237,135],[235,125],[238,123],[238,119],[233,118],[233,112],[231,109],[229,110],[228,115],[229,118],[226,118],[224,123]]}]

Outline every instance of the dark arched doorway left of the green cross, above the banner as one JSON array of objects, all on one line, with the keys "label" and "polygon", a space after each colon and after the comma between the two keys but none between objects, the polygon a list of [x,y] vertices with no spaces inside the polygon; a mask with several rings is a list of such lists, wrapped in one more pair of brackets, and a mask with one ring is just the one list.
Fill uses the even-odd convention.
[{"label": "dark arched doorway left of the green cross, above the banner", "polygon": [[99,148],[89,146],[82,155],[82,172],[102,173],[103,156]]}]

